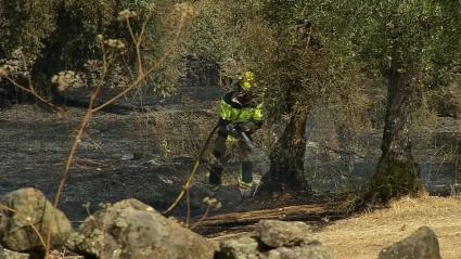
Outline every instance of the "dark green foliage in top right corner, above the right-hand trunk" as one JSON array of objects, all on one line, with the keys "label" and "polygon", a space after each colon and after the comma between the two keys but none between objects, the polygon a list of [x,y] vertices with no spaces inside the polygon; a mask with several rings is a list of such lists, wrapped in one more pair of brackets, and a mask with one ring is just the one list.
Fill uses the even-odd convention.
[{"label": "dark green foliage in top right corner, above the right-hand trunk", "polygon": [[437,64],[447,65],[460,51],[459,12],[459,1],[374,1],[357,14],[359,55],[384,74],[394,61],[400,74],[427,80],[439,73]]}]

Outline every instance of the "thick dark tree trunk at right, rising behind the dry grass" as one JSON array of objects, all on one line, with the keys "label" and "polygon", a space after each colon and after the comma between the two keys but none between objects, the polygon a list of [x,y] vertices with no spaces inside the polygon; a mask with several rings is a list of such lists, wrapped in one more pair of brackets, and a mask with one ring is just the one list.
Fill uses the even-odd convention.
[{"label": "thick dark tree trunk at right, rising behind the dry grass", "polygon": [[410,140],[411,117],[419,102],[415,80],[414,75],[400,74],[397,62],[392,64],[382,155],[367,202],[386,203],[394,197],[415,194],[422,186]]}]

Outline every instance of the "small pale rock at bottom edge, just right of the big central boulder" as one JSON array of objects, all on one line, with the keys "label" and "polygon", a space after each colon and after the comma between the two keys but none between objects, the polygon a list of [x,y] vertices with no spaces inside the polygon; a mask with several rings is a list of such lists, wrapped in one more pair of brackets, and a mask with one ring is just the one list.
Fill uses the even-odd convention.
[{"label": "small pale rock at bottom edge, just right of the big central boulder", "polygon": [[251,236],[225,241],[219,246],[217,259],[258,259],[258,242]]}]

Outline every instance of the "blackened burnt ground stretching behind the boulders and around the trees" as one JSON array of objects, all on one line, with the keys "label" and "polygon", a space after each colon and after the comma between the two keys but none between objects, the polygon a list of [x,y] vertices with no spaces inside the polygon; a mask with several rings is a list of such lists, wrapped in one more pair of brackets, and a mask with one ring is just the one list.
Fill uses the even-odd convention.
[{"label": "blackened burnt ground stretching behind the boulders and around the trees", "polygon": [[[33,186],[52,200],[64,171],[75,129],[84,113],[85,109],[71,108],[64,115],[50,114],[33,105],[17,105],[0,111],[0,195]],[[155,132],[142,130],[145,126],[139,121],[140,115],[139,112],[100,113],[92,119],[60,204],[61,209],[76,224],[84,220],[88,212],[98,210],[101,203],[114,203],[125,198],[137,198],[163,211],[181,190],[194,160],[190,157],[162,158],[159,148],[153,141]],[[324,129],[318,131],[323,132]],[[354,167],[350,167],[350,163],[343,165],[343,161],[337,163],[338,159],[330,159],[346,156],[332,152],[332,144],[329,144],[328,148],[319,147],[319,143],[328,143],[331,140],[316,137],[316,130],[311,132],[313,137],[309,137],[311,141],[308,143],[307,169],[318,177],[312,181],[315,191],[317,189],[338,192],[350,179],[361,182],[373,171],[373,163],[379,154],[375,152],[379,148],[379,132],[373,137],[376,143],[370,143],[376,153],[370,156],[373,161],[354,155],[357,156],[350,156],[355,160]],[[449,138],[445,138],[445,144],[450,144],[452,133],[446,132],[443,135],[447,134]],[[371,142],[373,138],[367,137]],[[439,150],[440,138],[437,143],[428,153],[435,154]],[[428,145],[433,145],[433,140],[428,140]],[[420,163],[423,180],[435,193],[437,190],[449,193],[453,187],[453,180],[454,183],[459,181],[457,168],[453,170],[453,165],[446,163],[448,158],[432,156],[435,157],[434,161],[425,159],[427,152],[418,155],[421,150],[415,153],[417,157],[422,157]],[[330,158],[325,160],[328,157]],[[346,170],[348,176],[344,172],[337,173],[346,167],[350,169]],[[227,170],[233,171],[235,168],[231,165]],[[206,209],[202,203],[208,195],[205,182],[205,169],[202,167],[190,193],[192,218],[200,217]],[[323,202],[309,195],[289,195],[258,197],[242,203],[234,184],[235,176],[228,172],[225,183],[217,196],[223,206],[212,213]],[[184,218],[185,211],[185,203],[181,203],[172,215]]]}]

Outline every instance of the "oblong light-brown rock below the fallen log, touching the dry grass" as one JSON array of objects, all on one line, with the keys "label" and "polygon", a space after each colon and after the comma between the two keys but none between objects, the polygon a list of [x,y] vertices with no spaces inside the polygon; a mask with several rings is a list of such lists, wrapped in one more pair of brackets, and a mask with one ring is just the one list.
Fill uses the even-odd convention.
[{"label": "oblong light-brown rock below the fallen log, touching the dry grass", "polygon": [[261,220],[256,225],[256,234],[267,246],[298,246],[315,243],[312,230],[304,222],[284,222],[278,220]]}]

